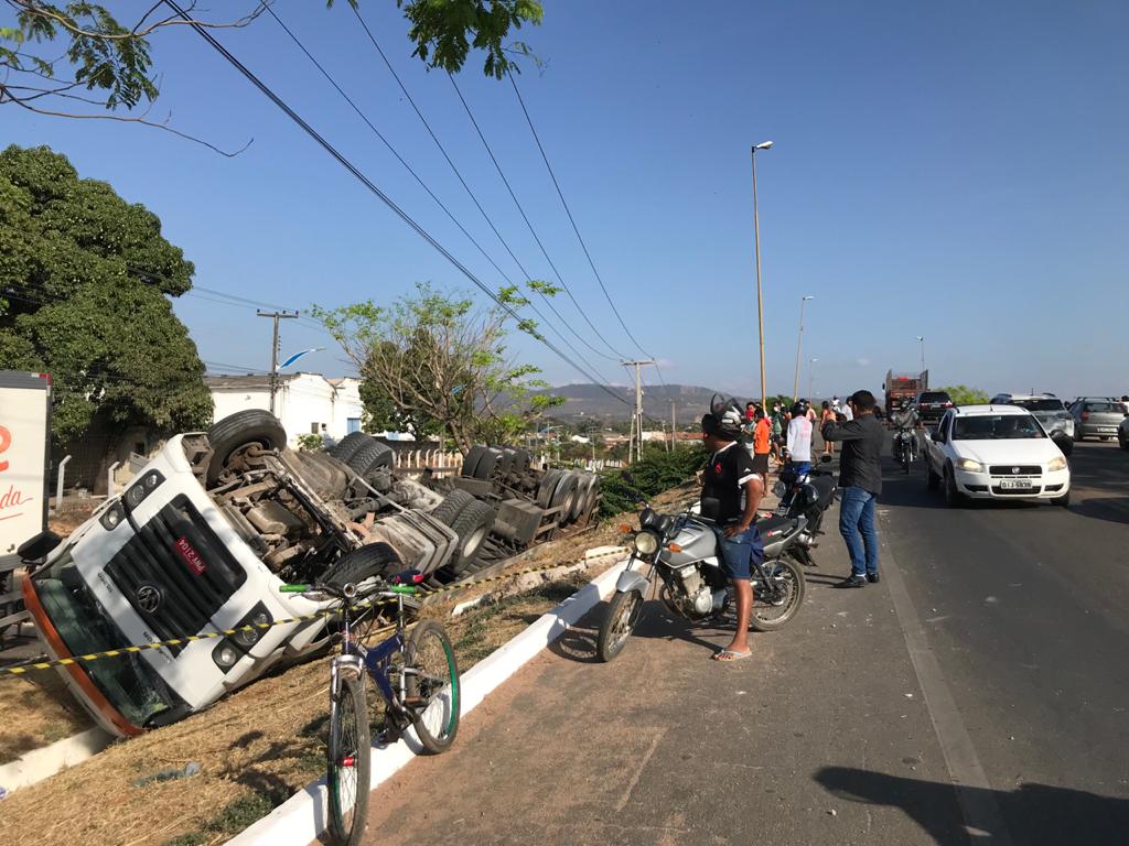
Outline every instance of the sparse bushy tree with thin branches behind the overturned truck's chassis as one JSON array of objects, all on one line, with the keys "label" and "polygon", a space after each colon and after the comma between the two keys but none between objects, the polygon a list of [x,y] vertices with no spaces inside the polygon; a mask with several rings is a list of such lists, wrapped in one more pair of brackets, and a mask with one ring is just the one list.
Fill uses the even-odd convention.
[{"label": "sparse bushy tree with thin branches behind the overturned truck's chassis", "polygon": [[513,360],[501,308],[478,309],[419,284],[387,307],[315,306],[313,314],[357,367],[370,429],[445,433],[465,451],[514,439],[562,402],[534,393],[549,387],[540,370]]}]

